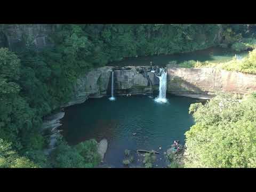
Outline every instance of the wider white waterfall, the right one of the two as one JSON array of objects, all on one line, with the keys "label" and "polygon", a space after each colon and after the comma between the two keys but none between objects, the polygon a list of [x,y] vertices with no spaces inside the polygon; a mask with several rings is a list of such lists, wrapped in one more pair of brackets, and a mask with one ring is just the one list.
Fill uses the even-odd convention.
[{"label": "wider white waterfall, the right one of the two", "polygon": [[167,82],[167,72],[164,68],[160,68],[159,72],[160,76],[157,76],[159,78],[159,95],[155,99],[156,102],[159,103],[166,103],[166,82]]}]

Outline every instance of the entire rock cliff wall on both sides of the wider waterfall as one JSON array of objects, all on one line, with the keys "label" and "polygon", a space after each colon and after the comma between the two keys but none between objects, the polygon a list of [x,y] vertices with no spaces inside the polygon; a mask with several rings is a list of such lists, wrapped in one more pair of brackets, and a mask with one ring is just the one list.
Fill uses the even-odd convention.
[{"label": "entire rock cliff wall on both sides of the wider waterfall", "polygon": [[[62,107],[83,103],[88,98],[110,95],[112,71],[114,71],[114,95],[157,95],[159,79],[150,70],[150,66],[93,69],[77,79],[70,102]],[[167,65],[167,93],[210,99],[221,91],[250,94],[256,91],[256,75],[217,68],[177,68]]]}]

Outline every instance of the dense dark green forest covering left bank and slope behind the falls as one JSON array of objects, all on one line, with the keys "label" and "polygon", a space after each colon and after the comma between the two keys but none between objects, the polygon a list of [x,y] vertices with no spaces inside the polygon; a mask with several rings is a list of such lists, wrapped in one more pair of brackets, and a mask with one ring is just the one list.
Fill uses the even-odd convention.
[{"label": "dense dark green forest covering left bank and slope behind the falls", "polygon": [[[43,118],[69,101],[81,73],[136,55],[231,46],[255,31],[247,24],[55,25],[49,34],[54,46],[39,50],[29,35],[23,35],[23,46],[10,47],[6,28],[0,25],[0,167],[92,167],[99,161],[92,152],[93,158],[83,153],[95,149],[94,141],[73,148],[60,141],[53,164],[42,152],[48,142],[40,132]],[[64,161],[68,153],[76,159]]]}]

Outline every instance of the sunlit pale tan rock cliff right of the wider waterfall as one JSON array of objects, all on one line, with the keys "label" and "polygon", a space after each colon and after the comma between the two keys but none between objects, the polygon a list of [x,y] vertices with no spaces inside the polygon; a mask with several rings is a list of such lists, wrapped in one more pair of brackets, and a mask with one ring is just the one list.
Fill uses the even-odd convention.
[{"label": "sunlit pale tan rock cliff right of the wider waterfall", "polygon": [[209,99],[220,91],[250,94],[256,91],[256,75],[217,68],[167,66],[167,93]]}]

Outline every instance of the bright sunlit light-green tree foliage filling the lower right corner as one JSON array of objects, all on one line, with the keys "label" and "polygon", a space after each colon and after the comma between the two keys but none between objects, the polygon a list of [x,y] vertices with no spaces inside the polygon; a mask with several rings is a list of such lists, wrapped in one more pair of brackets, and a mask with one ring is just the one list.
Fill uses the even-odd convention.
[{"label": "bright sunlit light-green tree foliage filling the lower right corner", "polygon": [[256,99],[220,94],[190,106],[196,124],[186,132],[185,167],[255,167]]}]

